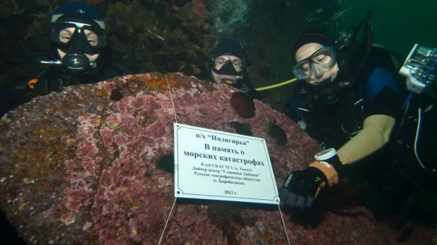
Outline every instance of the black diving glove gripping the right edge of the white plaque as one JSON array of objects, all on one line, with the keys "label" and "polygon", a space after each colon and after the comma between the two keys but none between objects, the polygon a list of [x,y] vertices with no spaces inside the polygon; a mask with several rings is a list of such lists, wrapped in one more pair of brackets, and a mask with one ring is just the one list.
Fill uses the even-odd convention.
[{"label": "black diving glove gripping the right edge of the white plaque", "polygon": [[316,167],[291,172],[279,189],[279,198],[291,208],[310,209],[320,191],[327,188],[325,174]]}]

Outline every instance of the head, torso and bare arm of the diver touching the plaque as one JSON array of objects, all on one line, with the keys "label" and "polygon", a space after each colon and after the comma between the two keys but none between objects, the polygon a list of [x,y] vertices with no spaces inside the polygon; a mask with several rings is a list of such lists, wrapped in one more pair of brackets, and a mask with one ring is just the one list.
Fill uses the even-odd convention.
[{"label": "head, torso and bare arm of the diver touching the plaque", "polygon": [[[326,35],[305,33],[294,44],[293,53],[297,62],[293,73],[302,81],[286,114],[330,150],[320,153],[307,169],[294,172],[281,189],[281,199],[291,206],[310,208],[315,197],[311,195],[319,184],[337,184],[351,164],[388,143],[402,100],[396,77],[386,68],[373,68],[366,78],[342,74],[335,44]],[[328,160],[320,157],[332,162],[326,164]],[[293,189],[294,182],[306,178],[315,182],[309,181],[308,188],[313,190],[305,190],[313,192],[305,193],[308,199],[294,195],[299,191]]]}]

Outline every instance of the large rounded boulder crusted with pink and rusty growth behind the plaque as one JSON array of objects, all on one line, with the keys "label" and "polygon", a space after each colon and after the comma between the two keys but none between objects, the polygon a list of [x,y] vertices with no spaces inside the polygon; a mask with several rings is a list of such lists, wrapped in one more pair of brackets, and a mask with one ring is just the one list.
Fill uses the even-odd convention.
[{"label": "large rounded boulder crusted with pink and rusty growth behind the plaque", "polygon": [[[175,110],[161,73],[129,75],[38,97],[0,121],[0,207],[30,244],[158,244],[174,202],[173,173],[159,167],[173,154],[173,123],[235,133],[250,125],[265,138],[281,186],[320,148],[284,114],[255,100],[255,116],[231,107],[233,88],[168,73]],[[110,100],[120,91],[120,100]],[[286,145],[266,135],[284,129]],[[173,164],[173,163],[172,163]],[[378,225],[354,191],[327,199],[317,227],[291,222],[291,244],[388,244],[395,232]],[[341,215],[338,213],[342,213]],[[418,229],[412,244],[430,241]],[[434,231],[435,232],[435,231]],[[425,235],[426,234],[426,235]],[[428,237],[427,237],[428,236]],[[287,244],[277,207],[179,200],[163,244]]]}]

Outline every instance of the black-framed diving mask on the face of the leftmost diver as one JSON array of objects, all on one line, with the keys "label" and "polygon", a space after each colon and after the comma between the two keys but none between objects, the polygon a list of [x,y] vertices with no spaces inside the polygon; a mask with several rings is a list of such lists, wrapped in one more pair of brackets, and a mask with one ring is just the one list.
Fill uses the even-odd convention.
[{"label": "black-framed diving mask on the face of the leftmost diver", "polygon": [[59,49],[85,54],[93,54],[107,44],[105,30],[83,23],[52,23],[50,37]]}]

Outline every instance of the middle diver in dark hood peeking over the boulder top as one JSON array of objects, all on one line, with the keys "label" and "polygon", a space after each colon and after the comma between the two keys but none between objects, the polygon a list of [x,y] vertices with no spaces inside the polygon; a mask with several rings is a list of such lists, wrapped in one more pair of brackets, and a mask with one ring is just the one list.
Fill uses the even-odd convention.
[{"label": "middle diver in dark hood peeking over the boulder top", "polygon": [[211,49],[209,61],[214,83],[226,83],[252,99],[262,100],[262,95],[251,88],[245,74],[247,55],[241,42],[232,37],[221,37]]}]

